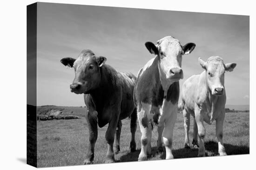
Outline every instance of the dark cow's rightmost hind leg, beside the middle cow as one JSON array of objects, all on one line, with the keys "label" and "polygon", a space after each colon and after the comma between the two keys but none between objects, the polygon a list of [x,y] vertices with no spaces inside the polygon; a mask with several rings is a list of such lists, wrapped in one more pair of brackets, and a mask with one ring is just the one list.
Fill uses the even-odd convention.
[{"label": "dark cow's rightmost hind leg, beside the middle cow", "polygon": [[131,114],[130,128],[131,128],[131,134],[132,134],[132,138],[130,142],[130,150],[131,152],[134,152],[136,151],[135,132],[137,130],[137,108],[135,108],[133,113]]}]

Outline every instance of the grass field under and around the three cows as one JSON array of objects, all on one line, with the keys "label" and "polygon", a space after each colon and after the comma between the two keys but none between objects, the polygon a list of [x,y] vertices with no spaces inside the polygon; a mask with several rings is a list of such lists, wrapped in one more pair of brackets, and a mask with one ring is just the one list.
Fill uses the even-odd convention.
[{"label": "grass field under and around the three cows", "polygon": [[[84,119],[85,108],[61,107],[65,110],[73,110],[73,115],[79,115],[82,119],[74,120],[47,120],[37,122],[37,165],[38,167],[81,165],[85,159],[88,130]],[[190,143],[192,142],[193,118],[190,119]],[[122,120],[120,139],[121,151],[115,155],[116,162],[137,161],[141,144],[141,132],[139,126],[136,131],[137,151],[130,153],[130,120]],[[205,148],[208,156],[218,155],[218,144],[215,136],[215,122],[213,125],[205,124],[206,143]],[[98,139],[95,145],[94,164],[105,161],[107,143],[105,132],[107,126],[98,129]],[[178,113],[175,123],[173,138],[173,154],[175,158],[197,157],[198,149],[184,149],[184,127],[183,117]],[[165,149],[162,155],[156,153],[157,132],[154,127],[152,132],[152,157],[149,160],[165,158]],[[228,155],[249,154],[249,113],[226,113],[224,122],[223,142]]]}]

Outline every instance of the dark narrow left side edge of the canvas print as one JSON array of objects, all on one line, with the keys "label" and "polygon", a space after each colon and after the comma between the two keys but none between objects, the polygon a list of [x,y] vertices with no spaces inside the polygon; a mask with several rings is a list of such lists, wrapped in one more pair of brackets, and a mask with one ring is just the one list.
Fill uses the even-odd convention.
[{"label": "dark narrow left side edge of the canvas print", "polygon": [[27,6],[27,164],[34,167],[37,167],[36,52],[37,3],[33,3]]}]

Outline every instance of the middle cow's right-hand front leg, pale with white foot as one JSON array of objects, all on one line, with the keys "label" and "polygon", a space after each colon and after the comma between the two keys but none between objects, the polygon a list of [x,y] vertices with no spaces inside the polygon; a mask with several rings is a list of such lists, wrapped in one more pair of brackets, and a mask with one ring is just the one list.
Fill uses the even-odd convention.
[{"label": "middle cow's right-hand front leg, pale with white foot", "polygon": [[172,142],[173,142],[173,129],[177,118],[177,107],[171,112],[170,117],[165,121],[165,127],[163,130],[163,144],[166,151],[166,159],[173,159],[172,154]]}]

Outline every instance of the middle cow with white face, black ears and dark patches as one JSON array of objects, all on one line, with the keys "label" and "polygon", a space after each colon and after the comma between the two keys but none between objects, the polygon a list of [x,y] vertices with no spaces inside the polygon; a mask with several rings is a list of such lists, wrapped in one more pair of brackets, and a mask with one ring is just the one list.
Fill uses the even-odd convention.
[{"label": "middle cow with white face, black ears and dark patches", "polygon": [[182,55],[195,48],[194,43],[182,46],[179,40],[168,36],[145,43],[151,54],[156,55],[139,71],[135,83],[134,98],[141,128],[141,153],[138,160],[151,154],[151,131],[158,125],[157,150],[166,148],[166,159],[173,158],[171,151],[173,128],[177,116],[179,80],[183,78]]}]

